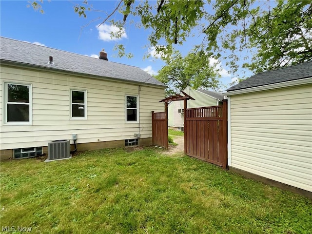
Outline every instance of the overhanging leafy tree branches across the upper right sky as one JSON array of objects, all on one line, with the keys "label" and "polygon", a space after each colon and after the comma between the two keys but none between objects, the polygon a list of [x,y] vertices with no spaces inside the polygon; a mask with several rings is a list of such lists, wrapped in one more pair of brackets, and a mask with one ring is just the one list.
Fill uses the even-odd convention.
[{"label": "overhanging leafy tree branches across the upper right sky", "polygon": [[[33,1],[34,8],[41,10],[40,1]],[[311,0],[120,0],[102,23],[109,22],[123,32],[129,15],[137,17],[139,27],[152,29],[149,46],[155,46],[168,62],[175,45],[195,34],[203,36],[196,53],[227,61],[233,73],[238,67],[262,72],[312,59],[311,5]],[[74,10],[86,17],[92,6],[85,0]],[[113,20],[117,13],[123,17]],[[120,37],[120,32],[112,36]],[[119,55],[125,54],[122,45],[118,49]]]}]

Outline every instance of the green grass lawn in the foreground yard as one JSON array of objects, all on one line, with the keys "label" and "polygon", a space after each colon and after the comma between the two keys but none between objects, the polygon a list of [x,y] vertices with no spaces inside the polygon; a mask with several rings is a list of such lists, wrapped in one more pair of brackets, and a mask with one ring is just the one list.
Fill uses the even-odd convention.
[{"label": "green grass lawn in the foreground yard", "polygon": [[305,234],[312,200],[161,149],[1,162],[1,226],[62,234]]}]

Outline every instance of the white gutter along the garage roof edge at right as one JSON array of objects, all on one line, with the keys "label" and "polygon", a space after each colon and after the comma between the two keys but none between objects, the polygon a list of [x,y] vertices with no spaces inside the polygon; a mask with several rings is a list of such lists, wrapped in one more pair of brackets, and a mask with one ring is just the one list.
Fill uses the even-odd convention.
[{"label": "white gutter along the garage roof edge at right", "polygon": [[246,94],[246,93],[251,93],[251,92],[277,89],[277,88],[284,88],[284,87],[289,87],[289,86],[294,86],[294,85],[310,84],[310,83],[312,83],[312,77],[304,78],[304,79],[290,80],[290,81],[285,81],[285,82],[276,83],[276,84],[267,84],[267,85],[262,85],[262,86],[258,86],[258,87],[247,88],[247,89],[239,89],[239,90],[229,91],[229,92],[223,93],[223,95],[229,97],[231,95]]}]

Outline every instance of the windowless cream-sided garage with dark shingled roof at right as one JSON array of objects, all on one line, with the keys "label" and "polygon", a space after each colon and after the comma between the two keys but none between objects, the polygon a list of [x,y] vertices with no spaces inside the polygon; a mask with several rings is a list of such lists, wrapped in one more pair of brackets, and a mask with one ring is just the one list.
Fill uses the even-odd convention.
[{"label": "windowless cream-sided garage with dark shingled roof at right", "polygon": [[311,196],[312,62],[256,74],[226,91],[229,169]]}]

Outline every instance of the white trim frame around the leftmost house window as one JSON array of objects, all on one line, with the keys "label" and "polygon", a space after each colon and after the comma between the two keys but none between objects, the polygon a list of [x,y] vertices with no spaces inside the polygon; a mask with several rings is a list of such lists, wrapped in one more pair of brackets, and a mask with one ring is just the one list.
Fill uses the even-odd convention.
[{"label": "white trim frame around the leftmost house window", "polygon": [[[8,122],[7,103],[8,103],[8,87],[7,84],[29,86],[29,122]],[[4,125],[32,125],[33,124],[33,85],[30,83],[3,81],[3,124]],[[14,104],[14,103],[13,103]],[[16,102],[16,104],[20,104]]]}]

